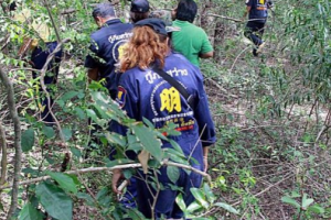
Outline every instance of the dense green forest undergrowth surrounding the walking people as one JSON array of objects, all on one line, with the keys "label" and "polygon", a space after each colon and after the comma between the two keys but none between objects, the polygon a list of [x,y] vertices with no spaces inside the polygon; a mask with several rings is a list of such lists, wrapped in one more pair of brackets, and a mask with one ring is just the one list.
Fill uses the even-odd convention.
[{"label": "dense green forest undergrowth surrounding the walking people", "polygon": [[[137,164],[125,158],[110,162],[108,145],[145,148],[156,158],[149,162],[150,167],[169,156],[179,164],[185,162],[180,151],[159,151],[160,132],[147,121],[145,127],[128,120],[105,95],[102,84],[87,84],[82,64],[88,53],[89,34],[96,29],[90,12],[97,1],[49,2],[61,40],[71,40],[64,44],[65,59],[54,88],[53,110],[58,120],[54,128],[39,120],[34,101],[39,95],[31,70],[17,59],[23,41],[19,33],[34,33],[24,26],[13,29],[14,21],[6,12],[8,1],[0,2],[0,69],[14,91],[1,77],[0,218],[6,219],[13,210],[10,205],[17,198],[18,209],[12,215],[19,219],[35,220],[45,215],[61,220],[141,219],[136,210],[119,208],[110,187],[115,165]],[[35,19],[54,29],[46,1],[21,2],[34,9]],[[114,3],[125,19],[129,2]],[[175,2],[151,4],[170,9]],[[196,201],[190,207],[184,207],[179,197],[181,208],[196,219],[330,219],[330,2],[275,1],[265,31],[267,46],[259,57],[250,54],[253,46],[243,36],[244,23],[215,16],[241,19],[244,1],[203,0],[199,4],[196,24],[209,32],[217,53],[214,61],[203,62],[202,72],[218,141],[210,158],[212,183],[205,179],[201,189],[192,189]],[[11,95],[20,124],[8,101]],[[94,127],[102,128],[100,132],[92,134],[88,118]],[[110,119],[121,121],[136,135],[125,140],[107,132]],[[167,129],[173,132],[173,128]],[[14,146],[19,138],[23,153],[18,161],[20,152]],[[90,141],[94,147],[86,156]],[[14,169],[18,162],[22,163],[19,170]],[[168,167],[175,179],[177,166]],[[132,172],[127,169],[126,175]],[[15,175],[23,182],[18,197],[12,196]]]}]

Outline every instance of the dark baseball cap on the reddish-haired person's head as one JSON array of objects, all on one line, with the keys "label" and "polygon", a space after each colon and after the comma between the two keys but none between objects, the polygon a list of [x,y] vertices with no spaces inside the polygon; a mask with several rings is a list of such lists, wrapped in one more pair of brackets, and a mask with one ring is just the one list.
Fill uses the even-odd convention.
[{"label": "dark baseball cap on the reddish-haired person's head", "polygon": [[180,29],[175,26],[166,26],[164,21],[156,18],[143,19],[135,23],[135,26],[145,26],[145,25],[152,28],[154,32],[162,35],[167,35],[170,32],[180,31]]}]

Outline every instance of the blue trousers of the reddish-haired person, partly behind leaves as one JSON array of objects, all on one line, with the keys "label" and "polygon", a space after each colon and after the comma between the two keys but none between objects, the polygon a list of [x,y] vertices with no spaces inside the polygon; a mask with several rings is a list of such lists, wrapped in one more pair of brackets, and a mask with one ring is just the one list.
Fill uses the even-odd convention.
[{"label": "blue trousers of the reddish-haired person, partly behind leaves", "polygon": [[[202,165],[195,165],[195,168],[202,170]],[[180,219],[183,218],[183,212],[175,202],[177,196],[180,194],[178,190],[172,190],[171,185],[175,185],[182,188],[183,200],[186,206],[194,201],[194,197],[190,191],[191,187],[199,188],[202,183],[202,176],[200,174],[191,172],[188,174],[185,170],[180,168],[180,177],[175,184],[173,184],[167,175],[167,167],[161,167],[160,174],[158,174],[158,180],[164,187],[163,190],[159,191],[157,198],[154,215],[157,219],[166,217],[167,219]],[[146,182],[147,180],[147,182]],[[137,178],[137,201],[138,209],[146,218],[151,218],[151,205],[153,204],[152,195],[156,194],[154,188],[150,184],[152,183],[151,176],[145,175],[142,172],[138,173]],[[151,194],[152,193],[152,194]]]}]

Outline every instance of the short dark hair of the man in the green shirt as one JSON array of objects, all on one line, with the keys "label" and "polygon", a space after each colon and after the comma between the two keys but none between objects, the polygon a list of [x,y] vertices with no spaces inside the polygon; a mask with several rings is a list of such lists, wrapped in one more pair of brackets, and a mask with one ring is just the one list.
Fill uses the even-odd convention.
[{"label": "short dark hair of the man in the green shirt", "polygon": [[193,0],[181,0],[178,3],[175,19],[193,23],[197,6]]}]

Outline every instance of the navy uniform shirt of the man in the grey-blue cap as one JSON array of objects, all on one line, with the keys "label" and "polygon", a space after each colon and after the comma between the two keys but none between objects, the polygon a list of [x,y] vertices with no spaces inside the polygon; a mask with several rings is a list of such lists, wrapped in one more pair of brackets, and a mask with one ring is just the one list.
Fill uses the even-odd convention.
[{"label": "navy uniform shirt of the man in the grey-blue cap", "polygon": [[132,35],[132,24],[122,23],[119,19],[107,21],[90,35],[89,50],[93,52],[85,59],[85,67],[98,68],[102,78],[106,78],[106,87],[116,91],[115,64],[122,51],[122,45]]}]

